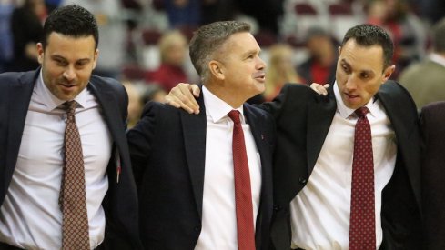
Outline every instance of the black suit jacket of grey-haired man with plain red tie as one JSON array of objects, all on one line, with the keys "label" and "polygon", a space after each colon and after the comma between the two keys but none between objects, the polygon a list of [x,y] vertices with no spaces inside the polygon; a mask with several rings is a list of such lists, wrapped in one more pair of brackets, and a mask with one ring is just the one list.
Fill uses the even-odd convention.
[{"label": "black suit jacket of grey-haired man with plain red tie", "polygon": [[[201,232],[207,120],[169,105],[148,103],[141,121],[127,133],[146,249],[193,250]],[[267,249],[272,215],[271,115],[244,105],[261,158],[262,185],[257,216],[257,249]]]}]

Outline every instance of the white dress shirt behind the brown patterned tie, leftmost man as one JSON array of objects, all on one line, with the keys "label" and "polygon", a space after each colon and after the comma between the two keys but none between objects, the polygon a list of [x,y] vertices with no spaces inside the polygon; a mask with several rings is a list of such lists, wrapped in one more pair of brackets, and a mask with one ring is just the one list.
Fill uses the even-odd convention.
[{"label": "white dress shirt behind the brown patterned tie, leftmost man", "polygon": [[[86,208],[91,248],[104,240],[102,200],[111,136],[100,105],[87,89],[76,96],[76,124],[85,162]],[[60,249],[62,212],[58,205],[64,162],[66,111],[40,73],[26,115],[15,171],[0,207],[0,241],[25,249]]]}]

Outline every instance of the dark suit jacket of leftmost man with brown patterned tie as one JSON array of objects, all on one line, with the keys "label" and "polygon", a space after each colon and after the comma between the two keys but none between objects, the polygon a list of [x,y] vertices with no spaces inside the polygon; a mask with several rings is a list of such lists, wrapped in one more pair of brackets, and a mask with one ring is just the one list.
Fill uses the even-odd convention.
[{"label": "dark suit jacket of leftmost man with brown patterned tie", "polygon": [[[0,75],[0,204],[3,204],[17,161],[25,117],[40,69]],[[121,174],[116,182],[116,153],[110,158],[108,191],[103,201],[106,212],[107,249],[141,248],[137,215],[137,190],[126,144],[126,105],[122,85],[111,78],[92,76],[88,89],[96,96],[119,153]],[[38,146],[38,145],[36,145]],[[42,228],[45,230],[45,228]]]}]

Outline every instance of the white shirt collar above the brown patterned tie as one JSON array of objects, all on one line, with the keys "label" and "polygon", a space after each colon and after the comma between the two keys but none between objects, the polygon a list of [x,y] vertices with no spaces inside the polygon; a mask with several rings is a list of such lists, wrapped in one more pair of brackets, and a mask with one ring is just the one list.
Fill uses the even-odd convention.
[{"label": "white shirt collar above the brown patterned tie", "polygon": [[[52,111],[55,108],[57,108],[58,106],[60,106],[66,102],[64,100],[60,100],[59,98],[57,98],[56,95],[53,95],[53,93],[51,93],[51,91],[46,87],[46,85],[44,84],[42,70],[40,70],[40,74],[38,75],[36,85],[37,86],[35,89],[35,92],[36,92],[35,94],[37,96],[40,96],[41,99],[39,101],[42,104],[46,105],[47,111]],[[82,90],[76,96],[76,98],[74,98],[74,100],[80,105],[80,107],[85,107],[86,106],[86,88],[84,90]]]}]

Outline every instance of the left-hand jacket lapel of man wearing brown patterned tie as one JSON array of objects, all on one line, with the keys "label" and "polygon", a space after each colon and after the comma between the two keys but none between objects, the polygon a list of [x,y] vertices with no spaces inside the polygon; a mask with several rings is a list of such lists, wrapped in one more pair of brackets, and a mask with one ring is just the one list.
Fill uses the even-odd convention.
[{"label": "left-hand jacket lapel of man wearing brown patterned tie", "polygon": [[25,128],[26,114],[28,112],[31,95],[33,94],[35,79],[40,73],[40,68],[34,72],[28,72],[18,79],[18,83],[9,84],[8,107],[8,136],[5,180],[3,182],[5,190],[14,173],[17,155],[22,142],[22,135]]}]

